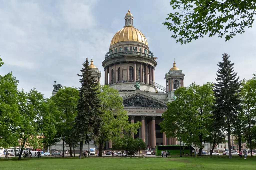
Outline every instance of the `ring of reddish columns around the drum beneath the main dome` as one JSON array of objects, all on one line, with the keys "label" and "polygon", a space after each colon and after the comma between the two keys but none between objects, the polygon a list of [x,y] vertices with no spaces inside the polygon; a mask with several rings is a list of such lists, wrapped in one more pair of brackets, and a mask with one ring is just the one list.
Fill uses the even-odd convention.
[{"label": "ring of reddish columns around the drum beneath the main dome", "polygon": [[[126,64],[120,62],[119,64],[112,64],[104,68],[105,71],[105,84],[112,84],[117,82],[135,82],[151,84],[151,80],[155,80],[154,66],[143,62],[127,61]],[[139,68],[137,68],[139,67]],[[126,73],[123,72],[126,70]],[[147,76],[145,76],[147,75]]]}]

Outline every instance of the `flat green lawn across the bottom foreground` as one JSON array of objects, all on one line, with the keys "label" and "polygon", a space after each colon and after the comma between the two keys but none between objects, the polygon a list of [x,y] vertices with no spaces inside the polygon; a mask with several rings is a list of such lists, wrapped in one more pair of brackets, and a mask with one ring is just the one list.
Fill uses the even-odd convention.
[{"label": "flat green lawn across the bottom foreground", "polygon": [[256,169],[256,157],[134,157],[134,158],[55,158],[0,159],[0,169]]}]

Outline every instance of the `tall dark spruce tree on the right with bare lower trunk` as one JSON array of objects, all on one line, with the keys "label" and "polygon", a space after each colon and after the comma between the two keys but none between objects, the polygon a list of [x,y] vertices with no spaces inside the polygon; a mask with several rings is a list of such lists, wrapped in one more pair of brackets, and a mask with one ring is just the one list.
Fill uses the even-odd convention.
[{"label": "tall dark spruce tree on the right with bare lower trunk", "polygon": [[229,158],[231,156],[230,127],[237,119],[236,112],[240,111],[240,82],[237,73],[234,73],[234,63],[229,60],[228,54],[222,54],[222,62],[219,62],[217,82],[214,83],[215,95],[215,119],[223,125],[228,132]]}]

